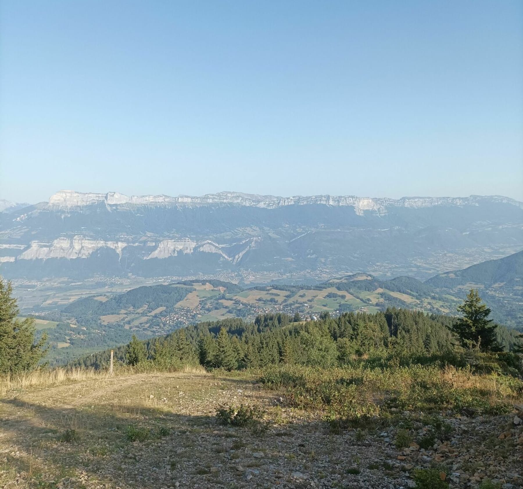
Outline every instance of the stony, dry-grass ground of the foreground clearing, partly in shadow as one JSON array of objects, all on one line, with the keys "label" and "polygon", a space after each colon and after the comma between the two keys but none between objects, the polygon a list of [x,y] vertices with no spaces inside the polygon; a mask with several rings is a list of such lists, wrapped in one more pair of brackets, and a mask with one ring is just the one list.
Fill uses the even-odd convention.
[{"label": "stony, dry-grass ground of the foreground clearing, partly in shadow", "polygon": [[[264,423],[218,422],[220,404],[240,403],[259,405]],[[286,407],[280,393],[249,378],[204,373],[8,391],[0,397],[0,487],[395,489],[414,486],[413,468],[438,463],[453,468],[451,487],[487,476],[507,488],[523,484],[514,414],[453,418],[452,440],[427,452],[396,449],[387,430],[331,434],[323,415]]]}]

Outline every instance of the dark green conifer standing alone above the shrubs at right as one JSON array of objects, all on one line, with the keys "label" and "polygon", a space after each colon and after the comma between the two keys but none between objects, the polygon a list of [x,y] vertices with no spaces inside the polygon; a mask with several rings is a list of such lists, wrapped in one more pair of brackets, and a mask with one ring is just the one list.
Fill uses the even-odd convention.
[{"label": "dark green conifer standing alone above the shrubs at right", "polygon": [[492,319],[487,319],[491,309],[483,304],[477,289],[471,289],[463,304],[458,306],[462,313],[451,326],[454,333],[464,348],[477,349],[482,352],[499,352],[502,350],[497,341],[497,324]]}]

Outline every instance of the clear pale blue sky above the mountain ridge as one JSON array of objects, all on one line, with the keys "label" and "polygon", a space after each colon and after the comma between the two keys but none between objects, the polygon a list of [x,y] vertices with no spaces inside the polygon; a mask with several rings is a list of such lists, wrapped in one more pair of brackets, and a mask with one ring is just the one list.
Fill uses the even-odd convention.
[{"label": "clear pale blue sky above the mountain ridge", "polygon": [[523,3],[3,0],[0,198],[523,200]]}]

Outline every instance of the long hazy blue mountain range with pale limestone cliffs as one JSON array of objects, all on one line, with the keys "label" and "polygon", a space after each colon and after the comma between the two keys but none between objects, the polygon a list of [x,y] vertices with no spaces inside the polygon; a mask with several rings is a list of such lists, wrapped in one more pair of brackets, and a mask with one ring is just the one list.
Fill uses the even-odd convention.
[{"label": "long hazy blue mountain range with pale limestone cliffs", "polygon": [[502,196],[60,191],[0,212],[0,273],[36,280],[245,271],[427,278],[522,248],[523,203]]}]

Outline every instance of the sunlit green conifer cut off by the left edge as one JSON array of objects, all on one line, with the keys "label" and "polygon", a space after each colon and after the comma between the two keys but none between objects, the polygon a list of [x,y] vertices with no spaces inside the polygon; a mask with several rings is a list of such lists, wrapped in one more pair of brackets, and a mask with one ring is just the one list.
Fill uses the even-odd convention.
[{"label": "sunlit green conifer cut off by the left edge", "polygon": [[0,277],[0,374],[16,374],[35,368],[47,352],[47,337],[35,343],[35,320],[21,321],[13,286]]}]

